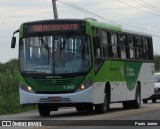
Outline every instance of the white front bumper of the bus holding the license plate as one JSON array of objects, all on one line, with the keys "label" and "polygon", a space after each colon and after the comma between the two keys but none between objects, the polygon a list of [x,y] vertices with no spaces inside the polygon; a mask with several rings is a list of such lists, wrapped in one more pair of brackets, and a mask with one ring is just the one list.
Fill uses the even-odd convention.
[{"label": "white front bumper of the bus holding the license plate", "polygon": [[[30,105],[39,103],[55,103],[55,104],[78,104],[78,103],[101,103],[103,99],[97,100],[97,95],[94,94],[94,87],[89,87],[88,89],[68,94],[36,94],[26,92],[19,88],[20,91],[20,104]],[[102,97],[101,97],[102,98]]]}]

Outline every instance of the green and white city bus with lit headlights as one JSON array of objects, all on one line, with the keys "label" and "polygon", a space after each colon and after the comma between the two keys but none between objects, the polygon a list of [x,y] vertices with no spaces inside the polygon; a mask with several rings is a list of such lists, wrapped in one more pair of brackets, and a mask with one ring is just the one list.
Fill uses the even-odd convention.
[{"label": "green and white city bus with lit headlights", "polygon": [[115,102],[138,109],[154,93],[151,35],[91,19],[27,22],[17,32],[20,104],[37,104],[41,116],[66,106],[105,113]]}]

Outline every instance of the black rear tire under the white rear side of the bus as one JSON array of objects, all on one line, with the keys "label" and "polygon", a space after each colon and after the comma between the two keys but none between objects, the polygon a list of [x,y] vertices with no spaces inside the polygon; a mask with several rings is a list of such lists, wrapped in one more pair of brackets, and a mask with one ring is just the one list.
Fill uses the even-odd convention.
[{"label": "black rear tire under the white rear side of the bus", "polygon": [[141,107],[141,89],[137,85],[135,100],[132,101],[132,106],[134,109],[139,109]]}]

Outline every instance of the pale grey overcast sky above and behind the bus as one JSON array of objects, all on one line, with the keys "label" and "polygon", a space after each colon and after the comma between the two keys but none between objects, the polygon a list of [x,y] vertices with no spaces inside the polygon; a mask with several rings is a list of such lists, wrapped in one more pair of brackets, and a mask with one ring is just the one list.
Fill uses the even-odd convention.
[{"label": "pale grey overcast sky above and behind the bus", "polygon": [[[103,17],[106,22],[114,21],[125,29],[153,35],[154,53],[160,54],[160,0],[68,1]],[[59,19],[96,18],[61,2],[66,1],[58,0],[57,2]],[[10,48],[10,41],[13,32],[19,28],[20,24],[43,19],[53,19],[52,0],[0,0],[0,62],[18,58],[18,35],[16,35],[16,49]],[[102,21],[102,19],[98,20]],[[136,29],[131,26],[136,26]]]}]

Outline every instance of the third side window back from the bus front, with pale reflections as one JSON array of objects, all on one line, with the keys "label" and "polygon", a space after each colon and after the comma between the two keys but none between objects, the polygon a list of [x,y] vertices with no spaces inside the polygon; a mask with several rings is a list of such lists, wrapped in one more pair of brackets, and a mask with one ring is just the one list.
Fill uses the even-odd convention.
[{"label": "third side window back from the bus front, with pale reflections", "polygon": [[111,48],[112,48],[112,58],[118,58],[118,49],[117,49],[117,34],[111,32]]}]

